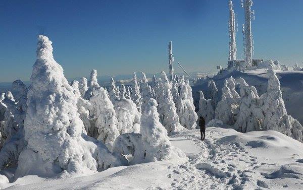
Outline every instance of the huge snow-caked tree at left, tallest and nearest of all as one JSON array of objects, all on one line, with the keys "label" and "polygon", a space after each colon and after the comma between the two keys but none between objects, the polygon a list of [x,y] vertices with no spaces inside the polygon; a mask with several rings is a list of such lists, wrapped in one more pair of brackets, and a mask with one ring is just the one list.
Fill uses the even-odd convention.
[{"label": "huge snow-caked tree at left, tallest and nearest of all", "polygon": [[27,93],[26,148],[15,177],[86,173],[122,164],[101,142],[85,135],[74,89],[53,57],[52,42],[38,37],[37,59]]}]

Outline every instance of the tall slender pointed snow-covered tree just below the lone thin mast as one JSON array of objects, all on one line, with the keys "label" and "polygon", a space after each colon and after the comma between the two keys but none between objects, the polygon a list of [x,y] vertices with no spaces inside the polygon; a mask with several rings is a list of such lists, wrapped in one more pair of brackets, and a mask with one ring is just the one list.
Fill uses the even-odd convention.
[{"label": "tall slender pointed snow-covered tree just below the lone thin mast", "polygon": [[180,124],[177,109],[171,94],[171,84],[164,71],[161,72],[161,81],[157,90],[157,99],[159,99],[158,111],[160,122],[168,132],[173,135],[175,132],[183,131],[185,128]]}]

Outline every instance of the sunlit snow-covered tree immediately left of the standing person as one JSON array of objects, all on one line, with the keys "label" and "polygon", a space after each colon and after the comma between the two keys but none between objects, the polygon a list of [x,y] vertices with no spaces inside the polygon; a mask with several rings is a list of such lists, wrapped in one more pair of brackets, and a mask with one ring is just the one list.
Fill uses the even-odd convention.
[{"label": "sunlit snow-covered tree immediately left of the standing person", "polygon": [[180,124],[188,130],[196,128],[196,121],[198,115],[196,114],[195,107],[193,105],[193,99],[191,95],[191,88],[188,88],[189,84],[181,81],[180,83],[180,95],[176,103],[177,113],[180,118]]}]

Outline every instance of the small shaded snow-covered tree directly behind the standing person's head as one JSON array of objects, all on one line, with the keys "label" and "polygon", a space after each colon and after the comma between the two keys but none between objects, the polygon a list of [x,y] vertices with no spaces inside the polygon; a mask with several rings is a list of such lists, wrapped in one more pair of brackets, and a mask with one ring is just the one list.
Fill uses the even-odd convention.
[{"label": "small shaded snow-covered tree directly behind the standing person's head", "polygon": [[199,91],[199,94],[200,99],[198,116],[203,117],[205,119],[205,123],[207,124],[213,118],[215,118],[215,111],[213,110],[212,99],[205,99],[202,91]]}]

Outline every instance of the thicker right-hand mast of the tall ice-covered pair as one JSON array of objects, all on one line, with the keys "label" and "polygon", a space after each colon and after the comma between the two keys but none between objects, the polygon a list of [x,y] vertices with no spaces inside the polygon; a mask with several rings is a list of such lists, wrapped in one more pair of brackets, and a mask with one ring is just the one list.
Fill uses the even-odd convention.
[{"label": "thicker right-hand mast of the tall ice-covered pair", "polygon": [[251,19],[255,19],[255,11],[251,11],[252,0],[241,0],[242,7],[244,8],[243,35],[244,35],[244,54],[246,67],[252,66],[252,54],[254,46],[251,35]]}]

